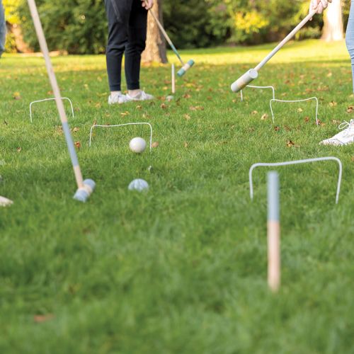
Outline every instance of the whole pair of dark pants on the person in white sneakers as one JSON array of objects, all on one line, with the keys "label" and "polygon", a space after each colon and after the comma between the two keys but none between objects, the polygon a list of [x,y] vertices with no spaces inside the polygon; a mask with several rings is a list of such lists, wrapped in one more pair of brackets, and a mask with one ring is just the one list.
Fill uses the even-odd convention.
[{"label": "whole pair of dark pants on the person in white sneakers", "polygon": [[106,50],[110,91],[120,91],[122,56],[125,53],[127,89],[140,88],[140,61],[147,40],[147,10],[141,0],[105,0],[108,18]]}]

